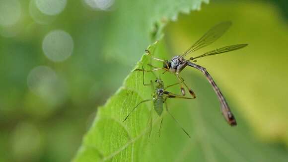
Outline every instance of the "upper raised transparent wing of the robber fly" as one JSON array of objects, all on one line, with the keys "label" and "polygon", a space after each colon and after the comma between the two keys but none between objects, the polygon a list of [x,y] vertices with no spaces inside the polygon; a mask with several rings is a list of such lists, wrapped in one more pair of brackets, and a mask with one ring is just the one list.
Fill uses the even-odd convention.
[{"label": "upper raised transparent wing of the robber fly", "polygon": [[194,43],[190,48],[188,48],[182,56],[186,56],[187,54],[199,50],[205,46],[210,45],[215,42],[218,38],[220,38],[227,29],[231,26],[230,21],[221,22],[214,27],[212,27],[208,32],[206,32],[196,43]]}]

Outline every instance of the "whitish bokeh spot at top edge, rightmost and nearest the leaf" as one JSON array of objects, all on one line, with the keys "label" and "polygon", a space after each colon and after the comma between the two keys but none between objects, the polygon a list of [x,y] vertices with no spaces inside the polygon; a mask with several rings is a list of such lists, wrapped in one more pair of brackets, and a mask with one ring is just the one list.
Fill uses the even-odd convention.
[{"label": "whitish bokeh spot at top edge, rightmost and nearest the leaf", "polygon": [[84,0],[87,5],[93,9],[108,10],[114,3],[114,0]]}]

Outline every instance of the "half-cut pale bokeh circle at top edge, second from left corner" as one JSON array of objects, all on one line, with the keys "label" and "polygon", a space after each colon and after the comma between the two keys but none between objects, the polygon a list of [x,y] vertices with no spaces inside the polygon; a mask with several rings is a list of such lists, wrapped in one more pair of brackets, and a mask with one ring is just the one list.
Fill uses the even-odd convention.
[{"label": "half-cut pale bokeh circle at top edge, second from left corner", "polygon": [[67,0],[36,0],[38,9],[47,15],[56,15],[62,12]]}]

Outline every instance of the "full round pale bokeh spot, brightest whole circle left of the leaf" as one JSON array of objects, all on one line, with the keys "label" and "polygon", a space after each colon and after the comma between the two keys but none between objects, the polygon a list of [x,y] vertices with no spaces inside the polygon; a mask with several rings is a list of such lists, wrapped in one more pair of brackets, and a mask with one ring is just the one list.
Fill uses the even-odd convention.
[{"label": "full round pale bokeh spot, brightest whole circle left of the leaf", "polygon": [[73,39],[63,30],[54,30],[48,33],[42,43],[42,49],[47,58],[54,62],[68,59],[73,52]]}]

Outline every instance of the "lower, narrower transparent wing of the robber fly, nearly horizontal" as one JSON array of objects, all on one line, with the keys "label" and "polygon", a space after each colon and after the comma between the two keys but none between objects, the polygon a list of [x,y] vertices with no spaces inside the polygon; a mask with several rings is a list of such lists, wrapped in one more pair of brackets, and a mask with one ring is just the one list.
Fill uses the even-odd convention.
[{"label": "lower, narrower transparent wing of the robber fly, nearly horizontal", "polygon": [[205,57],[205,56],[211,56],[211,55],[216,55],[216,54],[221,54],[221,53],[225,53],[225,52],[229,52],[229,51],[234,51],[234,50],[238,50],[240,48],[246,47],[248,44],[236,44],[236,45],[231,45],[231,46],[226,46],[226,47],[222,47],[222,48],[218,48],[216,50],[213,51],[209,51],[206,52],[203,55],[191,58],[191,60],[193,59],[198,59],[201,57]]}]

